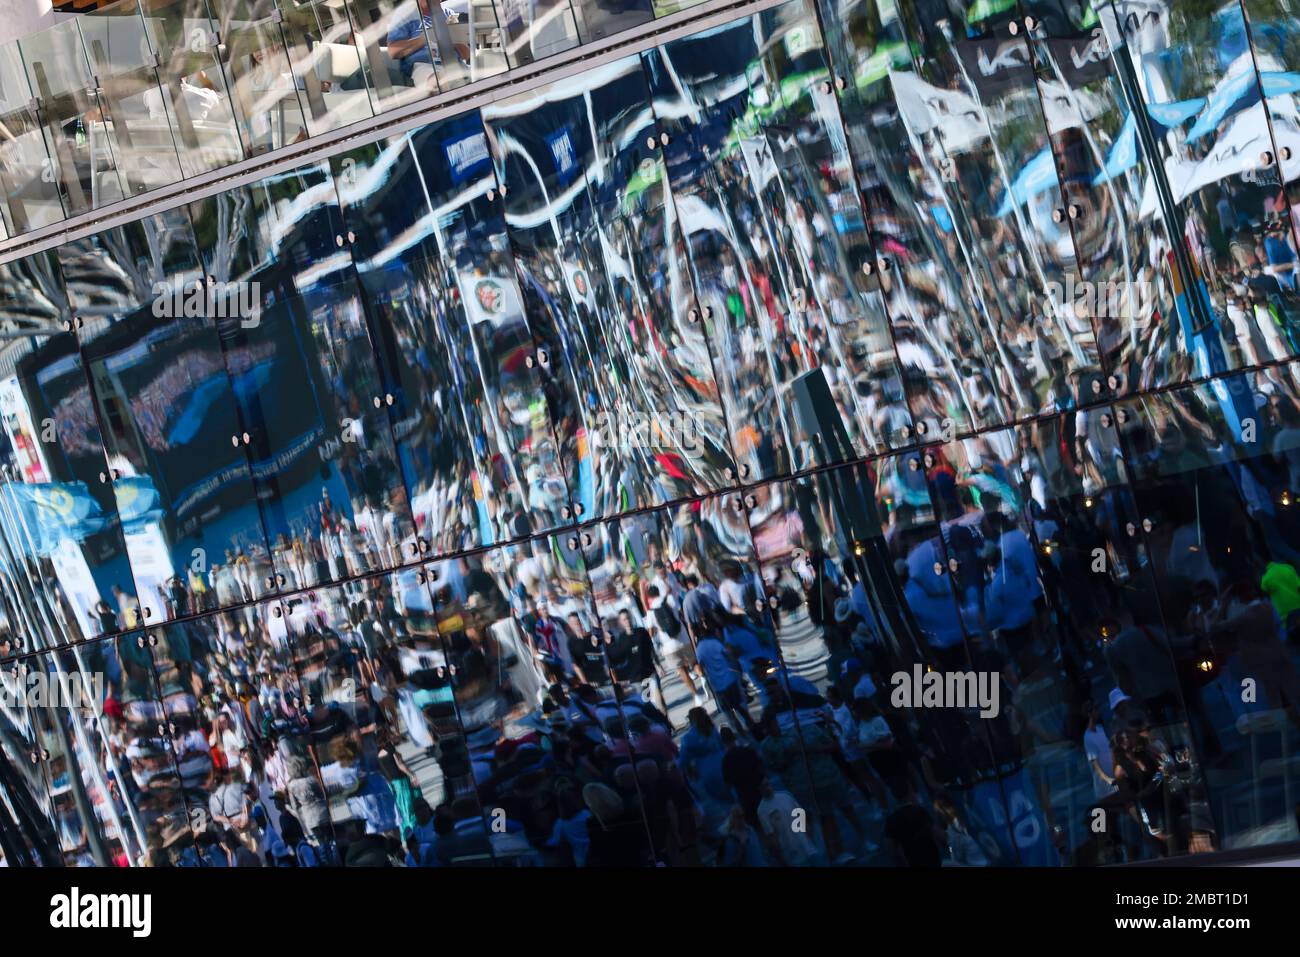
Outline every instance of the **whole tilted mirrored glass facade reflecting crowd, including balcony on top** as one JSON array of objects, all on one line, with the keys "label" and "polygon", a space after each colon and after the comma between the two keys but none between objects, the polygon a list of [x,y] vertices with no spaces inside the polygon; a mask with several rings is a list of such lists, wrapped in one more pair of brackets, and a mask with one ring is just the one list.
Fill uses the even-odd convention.
[{"label": "whole tilted mirrored glass facade reflecting crowd, including balcony on top", "polygon": [[[105,8],[0,47],[4,225],[686,5]],[[1297,43],[759,3],[10,256],[0,863],[1300,837]]]}]

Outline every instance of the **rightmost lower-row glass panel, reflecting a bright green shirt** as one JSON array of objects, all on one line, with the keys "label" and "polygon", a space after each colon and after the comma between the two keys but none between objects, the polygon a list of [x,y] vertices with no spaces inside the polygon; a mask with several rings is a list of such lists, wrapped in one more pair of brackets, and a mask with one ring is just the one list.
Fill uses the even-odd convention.
[{"label": "rightmost lower-row glass panel, reflecting a bright green shirt", "polygon": [[1226,846],[1294,840],[1291,365],[1123,407],[1140,524]]}]

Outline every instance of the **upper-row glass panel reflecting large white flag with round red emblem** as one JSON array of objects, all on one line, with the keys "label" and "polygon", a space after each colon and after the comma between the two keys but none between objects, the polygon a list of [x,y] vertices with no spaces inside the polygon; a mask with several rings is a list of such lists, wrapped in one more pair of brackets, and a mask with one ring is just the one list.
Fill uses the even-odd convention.
[{"label": "upper-row glass panel reflecting large white flag with round red emblem", "polygon": [[477,114],[334,166],[433,554],[562,524],[569,494]]}]

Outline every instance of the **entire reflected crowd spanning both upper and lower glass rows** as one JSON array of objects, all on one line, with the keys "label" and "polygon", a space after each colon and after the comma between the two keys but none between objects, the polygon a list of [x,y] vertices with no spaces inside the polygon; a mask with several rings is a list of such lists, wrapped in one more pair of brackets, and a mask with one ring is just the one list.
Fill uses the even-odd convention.
[{"label": "entire reflected crowd spanning both upper and lower glass rows", "polygon": [[[798,5],[760,26],[815,27]],[[832,56],[874,55],[868,34],[837,33]],[[1088,137],[1119,116],[1049,135],[1032,73],[982,91],[961,39],[926,38],[927,82],[997,113],[997,148],[950,168],[915,116],[855,113],[872,92],[779,92],[826,53],[759,49],[749,20],[611,68],[590,109],[529,91],[403,144],[424,164],[403,168],[426,190],[415,216],[441,218],[400,268],[358,254],[376,315],[312,313],[330,408],[361,421],[320,493],[286,482],[261,544],[222,544],[156,597],[118,586],[98,640],[75,640],[57,588],[42,605],[51,557],[5,558],[36,597],[6,596],[0,654],[55,624],[73,640],[31,661],[107,676],[100,716],[3,715],[0,785],[34,845],[5,858],[1053,865],[1292,836],[1300,380],[1096,404],[1104,368],[1174,385],[1213,355],[1176,322],[1165,226],[1132,183],[1093,178]],[[686,118],[627,152],[655,113]],[[503,205],[429,159],[467,133],[512,144],[503,173],[474,173],[510,183]],[[1087,216],[1049,224],[1048,194],[996,215],[1002,169],[1053,137]],[[367,202],[347,196],[391,212]],[[1284,194],[1225,179],[1183,208],[1227,317],[1227,365],[1200,372],[1292,355]],[[1143,291],[1119,317],[1034,293],[1071,270]],[[352,384],[380,369],[400,395],[367,417]],[[810,413],[818,372],[833,410]],[[173,380],[126,410],[146,443]],[[594,426],[611,411],[696,429],[627,445]],[[946,441],[945,421],[982,430]],[[862,462],[811,471],[846,451]],[[900,703],[914,667],[987,676],[1001,707]]]}]

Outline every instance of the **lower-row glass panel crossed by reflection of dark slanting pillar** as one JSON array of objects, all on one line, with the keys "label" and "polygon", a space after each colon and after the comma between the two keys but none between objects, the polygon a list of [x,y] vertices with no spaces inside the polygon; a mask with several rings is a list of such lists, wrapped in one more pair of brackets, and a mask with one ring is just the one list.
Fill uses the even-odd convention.
[{"label": "lower-row glass panel crossed by reflection of dark slanting pillar", "polygon": [[[928,454],[755,493],[754,545],[777,599],[792,685],[776,740],[793,723],[809,757],[807,776],[784,775],[784,785],[818,811],[826,841],[801,848],[762,805],[760,820],[783,854],[811,859],[824,848],[874,865],[1048,863],[1041,814],[1008,761],[1005,716],[989,720],[971,700],[919,706],[923,675],[975,667],[927,488]],[[985,705],[1001,697],[996,671],[974,674]]]}]

